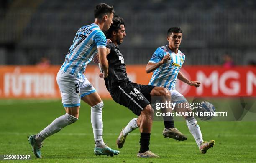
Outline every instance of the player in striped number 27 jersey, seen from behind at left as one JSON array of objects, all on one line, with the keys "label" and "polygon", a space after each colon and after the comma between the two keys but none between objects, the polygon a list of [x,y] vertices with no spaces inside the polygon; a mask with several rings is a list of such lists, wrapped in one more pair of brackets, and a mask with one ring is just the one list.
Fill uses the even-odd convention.
[{"label": "player in striped number 27 jersey, seen from behind at left", "polygon": [[118,150],[109,148],[103,141],[103,102],[95,88],[83,74],[93,55],[98,53],[103,76],[107,77],[108,60],[105,50],[107,39],[102,30],[110,28],[113,14],[113,6],[100,3],[94,10],[95,22],[91,25],[83,26],[77,31],[66,55],[65,62],[57,74],[57,83],[66,114],[56,118],[41,132],[28,138],[37,158],[41,158],[40,150],[44,139],[78,120],[81,99],[91,106],[91,123],[95,139],[94,153],[96,155],[110,156],[119,153]]}]

